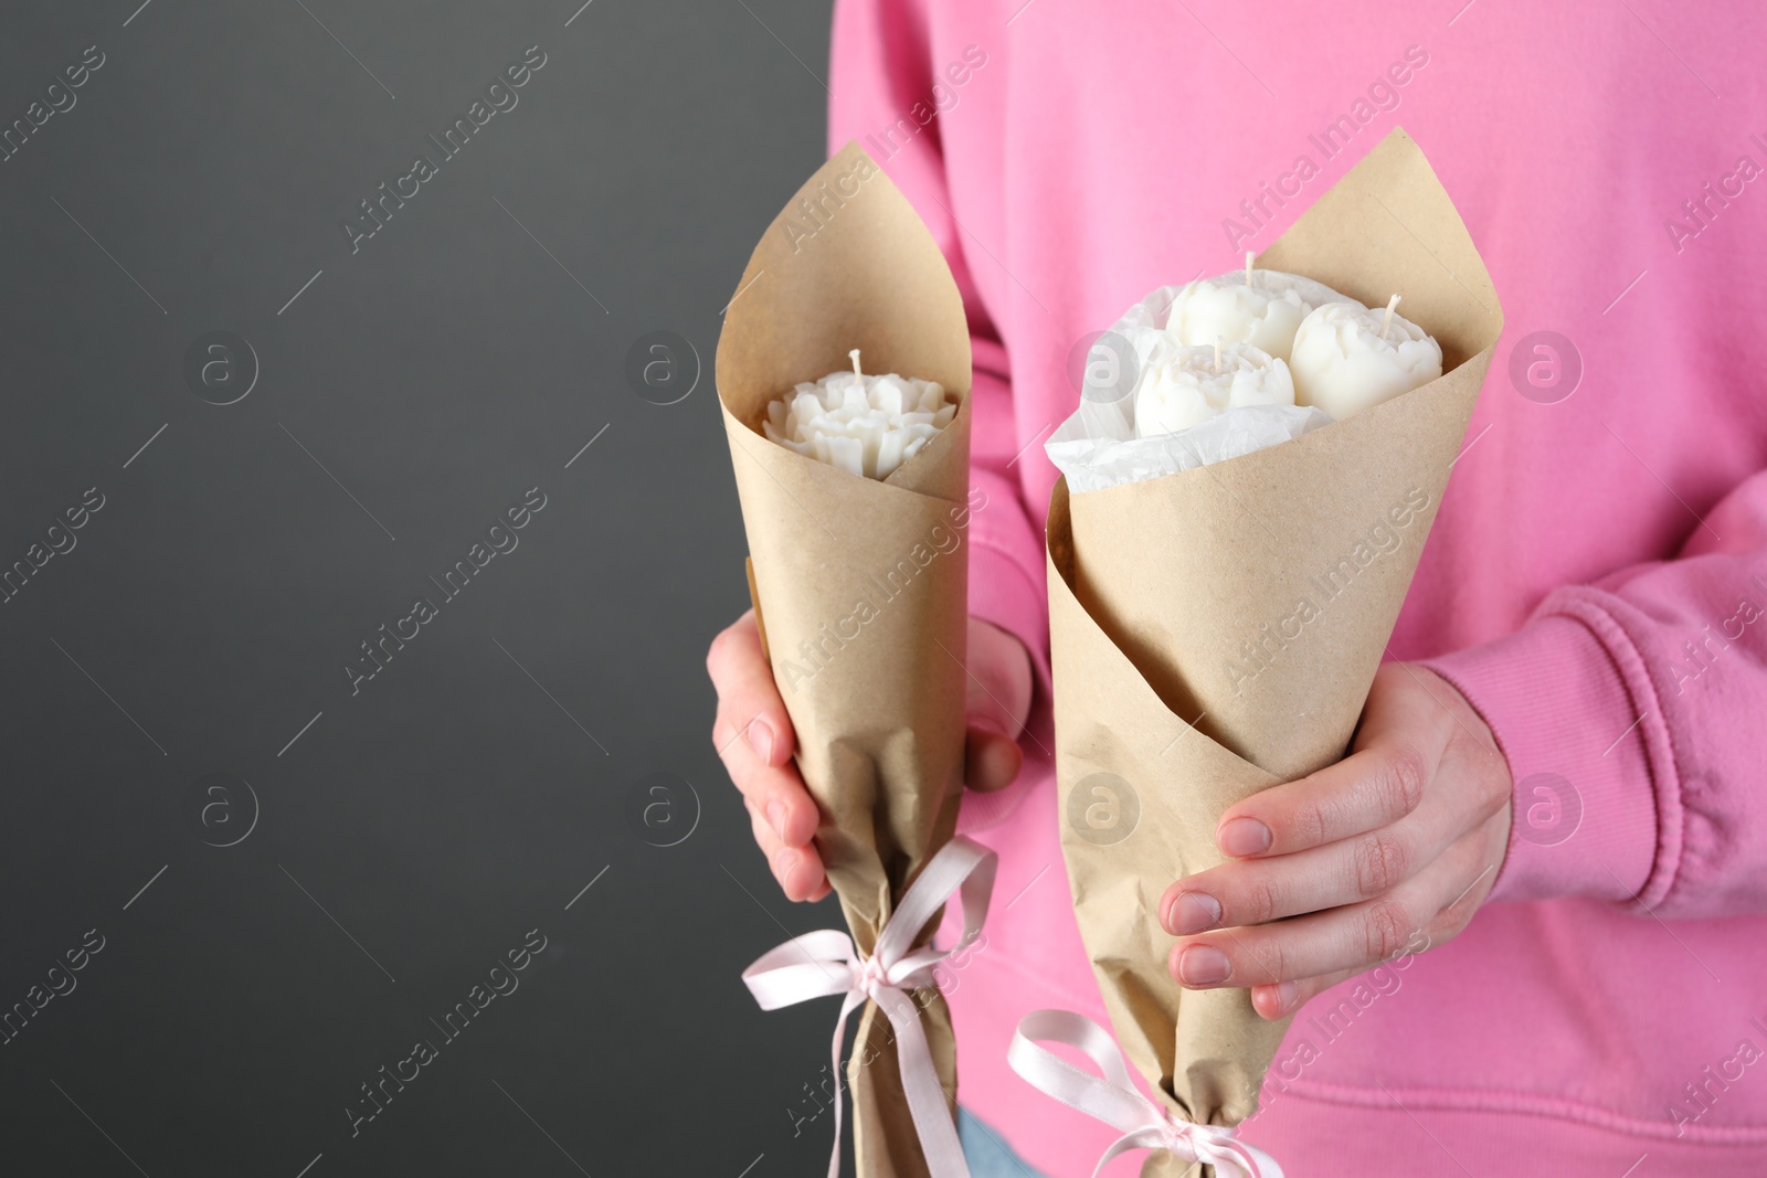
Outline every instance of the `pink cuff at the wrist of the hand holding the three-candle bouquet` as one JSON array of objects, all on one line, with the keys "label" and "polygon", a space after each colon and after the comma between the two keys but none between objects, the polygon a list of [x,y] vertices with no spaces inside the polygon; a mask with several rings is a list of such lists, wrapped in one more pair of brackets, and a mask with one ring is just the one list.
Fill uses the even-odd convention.
[{"label": "pink cuff at the wrist of the hand holding the three-candle bouquet", "polygon": [[1536,616],[1430,668],[1491,728],[1514,781],[1509,851],[1493,901],[1643,892],[1657,851],[1645,733],[1613,657],[1581,622]]}]

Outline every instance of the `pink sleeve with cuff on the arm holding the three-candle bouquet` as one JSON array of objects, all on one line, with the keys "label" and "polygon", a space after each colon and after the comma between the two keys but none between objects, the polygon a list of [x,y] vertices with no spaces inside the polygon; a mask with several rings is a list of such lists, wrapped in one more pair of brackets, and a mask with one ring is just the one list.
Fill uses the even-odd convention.
[{"label": "pink sleeve with cuff on the arm holding the three-candle bouquet", "polygon": [[1767,472],[1679,558],[1557,588],[1514,634],[1424,666],[1514,777],[1493,899],[1767,911]]}]

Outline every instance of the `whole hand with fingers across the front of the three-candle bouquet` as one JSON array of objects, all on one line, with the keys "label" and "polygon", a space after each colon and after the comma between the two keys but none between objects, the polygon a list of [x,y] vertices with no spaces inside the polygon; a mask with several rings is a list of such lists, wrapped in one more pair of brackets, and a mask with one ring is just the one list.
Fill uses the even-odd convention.
[{"label": "whole hand with fingers across the front of the three-candle bouquet", "polygon": [[1249,987],[1258,1014],[1279,1019],[1440,945],[1497,881],[1509,795],[1509,765],[1465,696],[1421,666],[1384,664],[1350,756],[1232,807],[1216,844],[1233,862],[1166,888],[1172,975]]}]

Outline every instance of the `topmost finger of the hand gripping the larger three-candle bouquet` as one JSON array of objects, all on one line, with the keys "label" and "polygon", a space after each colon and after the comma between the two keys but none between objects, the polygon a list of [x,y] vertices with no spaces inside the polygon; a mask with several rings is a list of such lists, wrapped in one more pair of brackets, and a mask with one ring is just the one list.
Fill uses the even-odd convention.
[{"label": "topmost finger of the hand gripping the larger three-candle bouquet", "polygon": [[1422,802],[1447,738],[1428,694],[1384,676],[1362,710],[1355,752],[1230,807],[1216,846],[1235,858],[1288,855],[1391,827]]}]

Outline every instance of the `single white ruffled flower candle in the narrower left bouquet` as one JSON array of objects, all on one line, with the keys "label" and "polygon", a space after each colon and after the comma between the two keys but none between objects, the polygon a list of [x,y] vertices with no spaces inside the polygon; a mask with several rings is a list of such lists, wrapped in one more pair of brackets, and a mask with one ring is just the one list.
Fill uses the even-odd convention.
[{"label": "single white ruffled flower candle in the narrower left bouquet", "polygon": [[852,475],[889,479],[951,424],[958,406],[945,403],[935,380],[859,371],[859,350],[848,353],[853,371],[802,381],[767,404],[762,429],[804,457],[829,463]]}]

